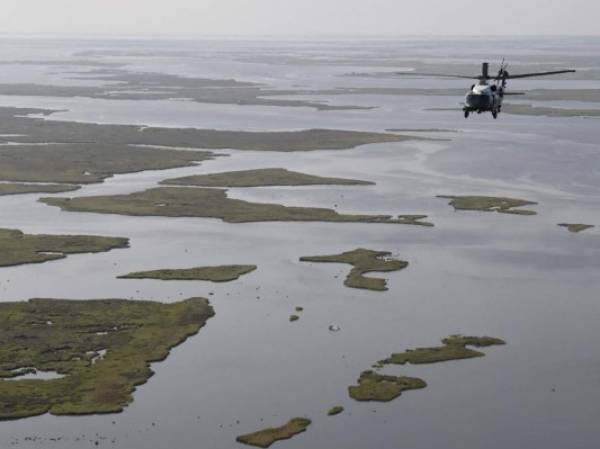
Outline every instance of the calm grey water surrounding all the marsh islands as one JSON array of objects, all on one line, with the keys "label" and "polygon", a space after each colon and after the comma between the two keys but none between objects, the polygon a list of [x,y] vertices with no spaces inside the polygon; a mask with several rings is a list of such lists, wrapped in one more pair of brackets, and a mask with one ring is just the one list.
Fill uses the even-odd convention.
[{"label": "calm grey water surrounding all the marsh islands", "polygon": [[[593,64],[600,55],[600,42],[596,41],[585,46],[579,40],[535,40],[529,44],[527,53],[541,60],[568,60],[561,55],[577,53]],[[428,60],[445,58],[449,49],[458,60],[465,60],[477,59],[479,52],[495,55],[507,46],[512,48],[510,42],[478,42],[474,57],[470,43],[437,45],[427,40],[397,46],[377,41],[228,41],[210,45],[88,41],[60,43],[63,51],[35,42],[24,44],[25,48],[27,45],[35,47],[35,59],[62,59],[82,50],[131,52],[142,48],[146,52],[143,56],[104,53],[96,58],[127,61],[130,67],[144,70],[262,80],[271,87],[301,84],[322,88],[352,86],[357,80],[337,76],[351,71],[348,65],[275,65],[240,59],[258,60],[268,52],[278,57],[287,53],[314,58],[316,53],[321,58],[333,58],[341,52],[344,58],[354,58],[360,71],[371,71],[378,68],[363,65],[365,54],[385,56],[390,48],[396,48],[394,55],[405,52],[412,59],[422,55]],[[168,56],[181,46],[191,51],[192,57]],[[582,46],[584,51],[580,51]],[[0,46],[0,53],[7,48]],[[148,56],[152,51],[163,56]],[[510,56],[508,51],[504,54]],[[21,69],[24,73],[29,70],[27,66]],[[46,70],[56,72],[57,68]],[[402,80],[384,82],[406,86]],[[419,80],[421,85],[427,82]],[[364,83],[378,85],[379,80]],[[560,80],[547,83],[554,88],[565,84]],[[586,83],[600,88],[598,81]],[[463,85],[448,83],[450,87]],[[66,194],[129,193],[177,176],[285,167],[365,179],[377,185],[231,189],[229,194],[251,201],[322,206],[340,212],[424,213],[435,228],[226,224],[213,219],[68,213],[37,202],[47,195],[1,197],[1,227],[126,236],[131,239],[131,248],[4,268],[0,270],[0,300],[115,297],[172,302],[207,296],[216,316],[197,336],[174,349],[166,361],[154,365],[156,375],[138,389],[124,413],[42,416],[0,423],[0,447],[18,442],[17,447],[23,448],[80,448],[99,441],[101,447],[126,449],[229,449],[236,445],[238,434],[302,415],[309,416],[313,425],[301,436],[280,443],[281,447],[593,446],[600,411],[600,228],[571,234],[556,224],[600,225],[597,121],[510,115],[502,115],[498,121],[487,115],[465,121],[460,111],[425,111],[459,107],[461,99],[454,97],[306,98],[378,108],[318,112],[181,101],[0,97],[4,106],[69,109],[51,117],[64,120],[251,130],[337,127],[458,131],[425,133],[449,139],[444,141],[367,145],[347,151],[220,151],[229,157],[197,167],[119,175],[104,184]],[[531,199],[539,202],[533,206],[538,215],[455,212],[447,205],[448,200],[435,198],[440,194]],[[357,247],[389,250],[410,265],[386,274],[390,290],[378,293],[344,287],[348,266],[298,261],[301,256]],[[185,268],[238,263],[256,264],[258,270],[225,284],[116,279],[131,271],[167,265]],[[290,323],[288,317],[296,306],[303,306],[305,311],[298,322]],[[339,325],[341,331],[330,332],[332,324]],[[386,368],[389,373],[422,377],[429,384],[389,404],[357,403],[348,398],[346,387],[373,362],[394,351],[436,345],[457,332],[500,337],[508,345],[486,349],[486,357],[476,360]],[[327,417],[327,410],[338,404],[346,411]],[[60,441],[51,441],[58,437]]]}]

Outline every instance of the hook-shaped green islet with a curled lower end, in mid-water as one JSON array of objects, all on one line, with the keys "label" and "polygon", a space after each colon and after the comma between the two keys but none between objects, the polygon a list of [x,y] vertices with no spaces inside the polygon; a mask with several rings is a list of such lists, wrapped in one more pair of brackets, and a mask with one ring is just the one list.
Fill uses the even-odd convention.
[{"label": "hook-shaped green islet with a curled lower end, in mid-water", "polygon": [[301,257],[300,261],[350,264],[353,268],[344,281],[346,287],[385,291],[387,290],[387,281],[385,279],[366,277],[364,274],[369,272],[398,271],[408,266],[408,262],[392,259],[390,256],[391,253],[387,251],[372,251],[359,248],[332,256],[305,256]]}]

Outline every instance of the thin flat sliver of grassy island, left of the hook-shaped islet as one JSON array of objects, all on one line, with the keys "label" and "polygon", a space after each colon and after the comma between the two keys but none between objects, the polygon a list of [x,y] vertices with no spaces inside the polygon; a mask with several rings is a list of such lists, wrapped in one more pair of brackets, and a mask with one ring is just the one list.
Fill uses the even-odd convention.
[{"label": "thin flat sliver of grassy island, left of the hook-shaped islet", "polygon": [[221,265],[185,269],[164,268],[152,271],[137,271],[118,276],[118,279],[158,279],[161,281],[235,281],[244,274],[256,270],[256,265]]}]

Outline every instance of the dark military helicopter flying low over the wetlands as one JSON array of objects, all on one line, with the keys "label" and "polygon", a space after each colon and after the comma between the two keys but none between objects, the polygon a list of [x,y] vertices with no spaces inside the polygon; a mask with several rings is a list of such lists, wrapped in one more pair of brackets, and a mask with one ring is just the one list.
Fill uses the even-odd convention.
[{"label": "dark military helicopter flying low over the wetlands", "polygon": [[[508,64],[505,63],[504,60],[502,60],[502,63],[500,64],[500,70],[496,76],[490,76],[489,68],[490,64],[488,62],[484,62],[481,65],[481,75],[477,76],[416,72],[397,72],[396,74],[476,79],[479,82],[471,86],[471,89],[469,92],[467,92],[465,98],[465,104],[463,106],[465,118],[469,118],[469,115],[472,112],[477,112],[478,114],[481,114],[482,112],[491,112],[494,119],[497,119],[498,115],[502,111],[502,102],[505,95],[523,95],[506,92],[509,79],[532,78],[537,76],[560,75],[562,73],[575,72],[575,70],[570,69],[556,70],[553,72],[522,73],[518,75],[512,75],[508,73]],[[493,83],[489,84],[488,81],[493,81]]]}]

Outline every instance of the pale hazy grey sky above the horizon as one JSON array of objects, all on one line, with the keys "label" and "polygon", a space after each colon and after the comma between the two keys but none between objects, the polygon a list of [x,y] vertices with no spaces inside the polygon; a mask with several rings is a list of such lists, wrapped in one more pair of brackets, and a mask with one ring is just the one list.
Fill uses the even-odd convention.
[{"label": "pale hazy grey sky above the horizon", "polygon": [[0,0],[0,33],[600,34],[600,0]]}]

